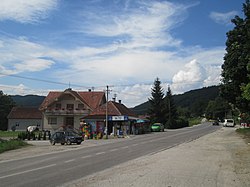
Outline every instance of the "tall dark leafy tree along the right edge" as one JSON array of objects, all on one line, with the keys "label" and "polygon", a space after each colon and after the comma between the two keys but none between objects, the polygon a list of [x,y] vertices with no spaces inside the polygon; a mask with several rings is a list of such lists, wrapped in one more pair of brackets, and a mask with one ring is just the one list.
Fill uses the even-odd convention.
[{"label": "tall dark leafy tree along the right edge", "polygon": [[[249,111],[250,100],[243,97],[249,90],[250,2],[243,4],[244,18],[235,16],[233,30],[227,33],[226,54],[222,65],[221,95],[241,112]],[[245,95],[247,95],[245,93]]]}]

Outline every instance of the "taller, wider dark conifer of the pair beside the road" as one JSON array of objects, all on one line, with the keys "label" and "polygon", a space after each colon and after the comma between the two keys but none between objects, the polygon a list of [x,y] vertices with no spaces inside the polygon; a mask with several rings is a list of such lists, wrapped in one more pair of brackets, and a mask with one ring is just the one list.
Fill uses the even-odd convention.
[{"label": "taller, wider dark conifer of the pair beside the road", "polygon": [[154,87],[151,89],[151,95],[149,103],[149,115],[152,123],[159,122],[165,123],[165,104],[164,104],[164,92],[161,87],[161,81],[157,77],[154,81]]}]

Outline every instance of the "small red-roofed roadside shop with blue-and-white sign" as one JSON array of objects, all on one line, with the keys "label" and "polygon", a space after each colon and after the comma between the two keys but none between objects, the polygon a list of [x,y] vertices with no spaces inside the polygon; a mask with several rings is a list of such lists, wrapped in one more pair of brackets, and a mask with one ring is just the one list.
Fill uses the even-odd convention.
[{"label": "small red-roofed roadside shop with blue-and-white sign", "polygon": [[106,108],[108,109],[108,134],[134,134],[134,122],[137,116],[120,101],[109,101],[96,108],[88,116],[82,117],[81,123],[89,124],[96,134],[106,134]]}]

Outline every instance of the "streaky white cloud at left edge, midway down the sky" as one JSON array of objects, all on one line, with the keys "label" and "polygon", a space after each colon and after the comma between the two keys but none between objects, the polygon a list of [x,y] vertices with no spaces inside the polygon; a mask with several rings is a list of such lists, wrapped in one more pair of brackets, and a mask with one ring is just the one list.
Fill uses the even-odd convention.
[{"label": "streaky white cloud at left edge, midway down the sky", "polygon": [[36,72],[50,68],[54,62],[46,59],[50,50],[24,38],[0,38],[0,69],[2,73]]}]

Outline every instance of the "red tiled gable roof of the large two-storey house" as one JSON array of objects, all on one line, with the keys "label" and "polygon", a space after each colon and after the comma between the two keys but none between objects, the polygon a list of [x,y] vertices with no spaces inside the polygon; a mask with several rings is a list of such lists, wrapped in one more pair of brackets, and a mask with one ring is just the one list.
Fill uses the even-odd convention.
[{"label": "red tiled gable roof of the large two-storey house", "polygon": [[40,106],[40,110],[46,109],[52,103],[56,102],[58,98],[63,96],[65,93],[71,93],[73,96],[80,99],[83,103],[87,104],[91,109],[95,109],[102,104],[102,101],[105,101],[104,92],[77,92],[71,89],[67,89],[63,92],[49,92],[48,96],[44,99],[43,103]]}]

